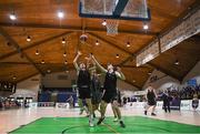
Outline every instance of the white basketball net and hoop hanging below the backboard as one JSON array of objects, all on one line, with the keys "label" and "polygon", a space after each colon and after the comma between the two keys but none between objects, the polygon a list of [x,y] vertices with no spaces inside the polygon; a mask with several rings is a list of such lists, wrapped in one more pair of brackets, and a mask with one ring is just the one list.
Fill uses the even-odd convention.
[{"label": "white basketball net and hoop hanging below the backboard", "polygon": [[107,20],[107,35],[117,35],[118,34],[119,20]]}]

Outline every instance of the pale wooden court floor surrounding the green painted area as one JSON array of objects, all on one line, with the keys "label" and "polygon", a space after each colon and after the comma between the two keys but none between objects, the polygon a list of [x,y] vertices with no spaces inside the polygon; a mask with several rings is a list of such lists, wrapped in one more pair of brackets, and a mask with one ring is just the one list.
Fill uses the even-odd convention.
[{"label": "pale wooden court floor surrounding the green painted area", "polygon": [[[143,116],[143,110],[124,109],[122,107],[122,114],[126,116],[141,115]],[[174,121],[186,124],[194,124],[200,126],[200,112],[192,111],[172,111],[171,114],[166,114],[163,111],[157,111],[158,116],[154,118]],[[86,114],[84,114],[86,115]],[[83,116],[84,116],[83,115]],[[112,111],[108,109],[107,115],[112,116]],[[40,117],[53,117],[53,116],[80,116],[78,109],[53,109],[53,107],[40,107],[40,109],[19,109],[0,111],[0,134],[6,134],[12,130],[16,130],[20,125],[28,124]],[[150,115],[148,115],[150,116]]]}]

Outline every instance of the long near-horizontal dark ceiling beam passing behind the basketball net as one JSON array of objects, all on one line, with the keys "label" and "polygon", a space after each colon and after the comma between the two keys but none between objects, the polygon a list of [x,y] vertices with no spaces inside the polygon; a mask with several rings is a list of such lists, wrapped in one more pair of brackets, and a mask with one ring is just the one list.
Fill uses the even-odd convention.
[{"label": "long near-horizontal dark ceiling beam passing behind the basketball net", "polygon": [[[66,29],[69,31],[82,31],[82,27],[72,27],[72,25],[52,25],[52,24],[36,24],[36,23],[4,23],[0,22],[0,27],[20,27],[20,28],[46,28],[46,29]],[[107,32],[106,29],[97,28],[86,28],[84,32]],[[144,34],[144,35],[156,35],[156,32],[146,32],[143,30],[118,30],[119,33],[124,34]]]}]

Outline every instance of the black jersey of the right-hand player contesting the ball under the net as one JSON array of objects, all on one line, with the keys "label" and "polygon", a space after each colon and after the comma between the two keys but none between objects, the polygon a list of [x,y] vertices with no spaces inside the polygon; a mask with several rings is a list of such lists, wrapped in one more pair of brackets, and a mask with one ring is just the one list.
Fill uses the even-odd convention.
[{"label": "black jersey of the right-hand player contesting the ball under the net", "polygon": [[117,75],[116,72],[107,72],[104,79],[104,90],[107,93],[117,93]]}]

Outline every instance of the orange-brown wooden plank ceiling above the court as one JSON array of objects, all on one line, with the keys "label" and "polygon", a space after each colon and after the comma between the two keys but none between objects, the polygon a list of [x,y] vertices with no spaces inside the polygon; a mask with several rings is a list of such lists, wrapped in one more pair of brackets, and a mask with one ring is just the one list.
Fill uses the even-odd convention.
[{"label": "orange-brown wooden plank ceiling above the court", "polygon": [[[38,73],[46,74],[47,70],[71,70],[78,50],[83,53],[81,61],[92,52],[102,64],[111,62],[121,65],[127,76],[126,82],[138,89],[142,87],[149,78],[148,73],[153,69],[181,81],[199,61],[199,35],[181,42],[139,68],[136,68],[136,53],[158,34],[173,27],[179,18],[198,3],[199,0],[148,0],[151,10],[148,31],[142,30],[140,21],[120,20],[119,34],[109,37],[101,24],[102,19],[79,17],[78,0],[0,1],[0,81],[20,82]],[[66,13],[62,20],[57,17],[59,10]],[[17,14],[16,21],[9,19],[13,11]],[[84,44],[79,40],[83,28],[88,35]],[[31,42],[27,42],[28,35]],[[66,45],[61,43],[62,38],[67,39]],[[94,44],[97,40],[100,45]],[[126,47],[128,41],[130,48]],[[36,55],[37,50],[39,55]],[[179,66],[173,64],[176,60],[180,61]],[[13,80],[13,76],[17,79]]]}]

